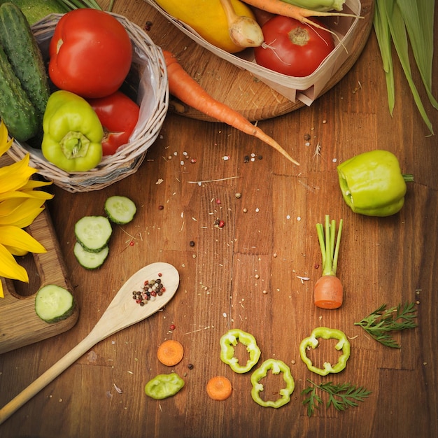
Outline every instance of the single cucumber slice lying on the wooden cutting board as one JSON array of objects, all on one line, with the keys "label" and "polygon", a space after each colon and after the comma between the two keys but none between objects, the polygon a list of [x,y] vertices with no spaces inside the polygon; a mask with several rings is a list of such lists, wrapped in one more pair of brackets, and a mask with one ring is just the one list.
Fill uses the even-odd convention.
[{"label": "single cucumber slice lying on the wooden cutting board", "polygon": [[36,314],[49,324],[69,318],[75,304],[73,295],[61,286],[49,284],[36,292]]}]

